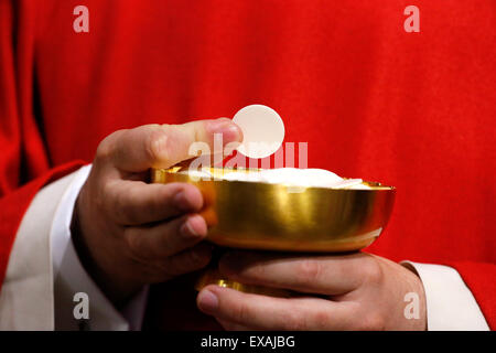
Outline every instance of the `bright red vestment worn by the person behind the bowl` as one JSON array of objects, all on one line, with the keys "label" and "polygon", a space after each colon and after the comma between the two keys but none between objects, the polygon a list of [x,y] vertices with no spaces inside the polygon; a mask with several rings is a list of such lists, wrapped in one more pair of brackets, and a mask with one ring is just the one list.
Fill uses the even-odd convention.
[{"label": "bright red vestment worn by the person behind the bowl", "polygon": [[[309,167],[397,188],[368,248],[446,264],[496,328],[496,2],[0,0],[0,282],[36,191],[110,132],[263,104]],[[455,308],[454,308],[455,310]]]}]

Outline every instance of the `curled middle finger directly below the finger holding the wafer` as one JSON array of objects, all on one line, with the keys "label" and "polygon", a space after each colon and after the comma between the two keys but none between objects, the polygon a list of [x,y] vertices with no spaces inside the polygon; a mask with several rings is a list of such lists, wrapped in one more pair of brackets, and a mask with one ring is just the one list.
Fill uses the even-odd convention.
[{"label": "curled middle finger directly below the finger holding the wafer", "polygon": [[147,184],[115,180],[108,183],[104,202],[114,220],[121,225],[159,222],[203,206],[200,190],[187,183]]}]

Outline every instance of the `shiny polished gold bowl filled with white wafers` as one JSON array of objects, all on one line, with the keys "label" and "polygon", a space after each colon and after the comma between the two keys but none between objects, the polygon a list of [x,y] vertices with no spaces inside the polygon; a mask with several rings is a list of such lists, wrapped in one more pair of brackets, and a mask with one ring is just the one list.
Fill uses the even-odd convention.
[{"label": "shiny polished gold bowl filled with white wafers", "polygon": [[[301,253],[364,248],[388,223],[396,192],[376,182],[364,182],[369,190],[295,189],[262,182],[198,180],[185,171],[185,167],[155,169],[151,179],[157,183],[196,185],[204,195],[202,215],[209,226],[207,239],[231,248]],[[211,169],[214,176],[230,171]],[[216,282],[244,290],[242,285],[215,278],[214,269],[203,276],[197,287]]]}]

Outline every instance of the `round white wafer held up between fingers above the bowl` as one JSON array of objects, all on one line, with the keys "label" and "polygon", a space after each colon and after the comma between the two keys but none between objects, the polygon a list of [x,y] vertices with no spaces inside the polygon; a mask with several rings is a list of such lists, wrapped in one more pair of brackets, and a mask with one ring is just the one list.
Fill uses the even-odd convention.
[{"label": "round white wafer held up between fingers above the bowl", "polygon": [[274,153],[284,140],[284,122],[276,110],[255,104],[240,109],[233,118],[242,131],[237,150],[249,158]]}]

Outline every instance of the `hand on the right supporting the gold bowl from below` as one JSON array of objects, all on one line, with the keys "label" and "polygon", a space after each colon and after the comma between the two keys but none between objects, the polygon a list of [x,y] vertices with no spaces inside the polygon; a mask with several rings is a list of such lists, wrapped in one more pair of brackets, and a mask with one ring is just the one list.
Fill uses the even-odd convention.
[{"label": "hand on the right supporting the gold bowl from below", "polygon": [[[207,286],[198,308],[226,330],[425,330],[420,278],[401,265],[366,253],[281,255],[230,252],[220,272],[242,284],[302,293],[276,298]],[[419,315],[407,319],[408,292],[418,295]],[[317,295],[317,296],[312,296]]]}]

